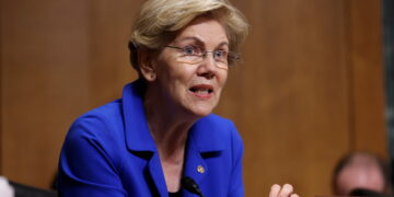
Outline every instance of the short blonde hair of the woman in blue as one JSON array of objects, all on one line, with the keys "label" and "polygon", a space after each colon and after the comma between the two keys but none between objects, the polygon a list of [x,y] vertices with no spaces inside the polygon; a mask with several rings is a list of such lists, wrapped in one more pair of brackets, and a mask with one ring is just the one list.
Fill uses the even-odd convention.
[{"label": "short blonde hair of the woman in blue", "polygon": [[239,53],[248,25],[244,15],[228,0],[148,0],[131,30],[129,48],[132,67],[140,72],[139,48],[155,50],[163,47],[179,30],[201,15],[218,20],[225,28],[230,50]]}]

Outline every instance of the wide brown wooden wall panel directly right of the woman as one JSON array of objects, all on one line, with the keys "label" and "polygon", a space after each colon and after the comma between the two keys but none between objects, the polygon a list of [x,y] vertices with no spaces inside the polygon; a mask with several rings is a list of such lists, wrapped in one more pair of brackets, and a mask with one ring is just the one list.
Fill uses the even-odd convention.
[{"label": "wide brown wooden wall panel directly right of the woman", "polygon": [[218,112],[244,138],[246,196],[274,183],[291,183],[302,196],[329,194],[331,171],[351,138],[343,1],[242,9],[251,19],[245,65],[230,77]]}]

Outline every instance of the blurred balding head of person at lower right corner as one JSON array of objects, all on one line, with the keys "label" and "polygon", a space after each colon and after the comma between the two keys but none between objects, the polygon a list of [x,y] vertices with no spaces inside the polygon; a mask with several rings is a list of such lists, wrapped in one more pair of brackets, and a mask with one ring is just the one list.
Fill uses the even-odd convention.
[{"label": "blurred balding head of person at lower right corner", "polygon": [[333,175],[333,192],[338,196],[386,196],[390,193],[389,166],[368,152],[351,152],[339,160]]}]

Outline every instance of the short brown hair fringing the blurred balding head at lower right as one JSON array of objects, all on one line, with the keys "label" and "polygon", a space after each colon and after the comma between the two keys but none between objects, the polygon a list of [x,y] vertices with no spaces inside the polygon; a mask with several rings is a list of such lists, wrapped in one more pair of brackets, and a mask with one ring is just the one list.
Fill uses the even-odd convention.
[{"label": "short brown hair fringing the blurred balding head at lower right", "polygon": [[345,154],[336,164],[334,172],[333,172],[333,178],[332,178],[333,192],[335,194],[338,194],[337,181],[338,181],[339,173],[346,166],[348,166],[357,157],[364,157],[369,161],[373,161],[376,164],[376,166],[379,167],[380,172],[382,173],[382,176],[384,178],[385,189],[386,190],[390,189],[390,187],[391,187],[391,170],[389,169],[389,164],[382,158],[379,158],[375,154],[372,154],[370,152],[364,152],[364,151],[356,151],[356,152],[350,152],[348,154]]}]

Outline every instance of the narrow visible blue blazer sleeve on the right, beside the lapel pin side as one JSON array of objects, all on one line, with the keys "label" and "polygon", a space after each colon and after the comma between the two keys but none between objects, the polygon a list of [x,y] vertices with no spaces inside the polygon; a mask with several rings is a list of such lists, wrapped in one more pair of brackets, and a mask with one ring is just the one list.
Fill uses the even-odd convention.
[{"label": "narrow visible blue blazer sleeve on the right, beside the lapel pin side", "polygon": [[231,197],[241,197],[245,196],[245,189],[243,185],[242,176],[242,158],[243,158],[243,142],[242,138],[235,129],[235,126],[232,127],[232,173],[230,178],[230,188],[229,196]]}]

